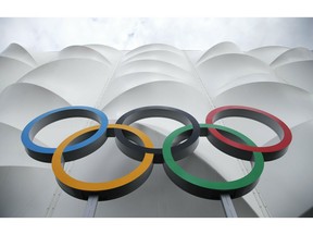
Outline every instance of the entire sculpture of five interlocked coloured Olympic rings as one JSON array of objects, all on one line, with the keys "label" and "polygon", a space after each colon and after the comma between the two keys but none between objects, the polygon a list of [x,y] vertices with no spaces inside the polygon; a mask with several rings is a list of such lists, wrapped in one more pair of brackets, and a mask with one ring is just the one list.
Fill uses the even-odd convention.
[{"label": "entire sculpture of five interlocked coloured Olympic rings", "polygon": [[[280,141],[273,146],[258,147],[251,139],[235,129],[214,124],[227,116],[241,116],[261,122],[272,128]],[[57,148],[47,148],[34,144],[36,134],[45,126],[67,118],[89,118],[99,125],[87,127],[64,139]],[[129,126],[146,118],[167,118],[185,126],[171,133],[163,147],[153,148],[149,136]],[[235,158],[253,162],[251,172],[242,178],[230,182],[211,182],[187,173],[176,161],[192,153],[199,138],[204,136],[223,152]],[[134,109],[122,115],[115,124],[109,124],[107,115],[90,107],[65,107],[39,115],[30,121],[22,132],[22,143],[32,158],[51,162],[52,171],[60,187],[73,197],[87,200],[97,195],[99,200],[118,198],[137,189],[149,177],[153,164],[162,163],[167,176],[181,189],[202,198],[221,199],[221,195],[231,198],[241,197],[251,191],[262,174],[264,161],[280,158],[291,143],[290,128],[278,118],[250,107],[226,106],[212,110],[205,124],[199,124],[189,113],[162,106]],[[130,173],[109,182],[87,183],[68,175],[63,163],[80,159],[101,147],[108,137],[115,137],[123,153],[140,161]]]}]

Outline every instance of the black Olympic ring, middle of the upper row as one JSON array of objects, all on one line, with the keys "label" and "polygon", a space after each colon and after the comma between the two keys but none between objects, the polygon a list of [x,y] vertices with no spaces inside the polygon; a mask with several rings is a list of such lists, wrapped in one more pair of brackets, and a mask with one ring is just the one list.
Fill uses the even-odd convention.
[{"label": "black Olympic ring, middle of the upper row", "polygon": [[[192,115],[179,109],[163,106],[142,107],[125,113],[116,121],[116,124],[130,125],[132,123],[146,118],[167,118],[176,120],[185,125],[192,125],[192,133],[188,136],[183,136],[181,139],[178,139],[178,143],[183,139],[186,139],[186,141],[172,147],[175,161],[187,157],[197,148],[200,136],[199,123]],[[141,161],[143,153],[149,152],[154,154],[153,163],[164,162],[162,148],[146,148],[143,146],[139,146],[135,144],[136,141],[130,141],[129,138],[125,137],[122,129],[115,129],[115,136],[116,145],[121,151],[127,156],[129,152],[132,152],[130,156],[136,156],[135,158],[132,157],[135,160]]]}]

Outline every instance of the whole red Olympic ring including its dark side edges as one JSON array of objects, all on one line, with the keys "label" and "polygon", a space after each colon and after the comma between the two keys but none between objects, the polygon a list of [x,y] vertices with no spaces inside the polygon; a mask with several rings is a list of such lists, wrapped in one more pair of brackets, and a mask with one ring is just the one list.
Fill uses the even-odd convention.
[{"label": "whole red Olympic ring including its dark side edges", "polygon": [[259,121],[271,127],[280,138],[280,141],[276,145],[256,147],[234,141],[218,133],[217,129],[211,129],[212,138],[209,138],[209,140],[215,147],[220,148],[220,150],[225,151],[228,154],[240,156],[238,158],[247,160],[252,151],[259,151],[263,153],[265,161],[272,161],[284,156],[291,143],[291,131],[281,120],[267,112],[250,107],[226,106],[217,108],[206,115],[205,123],[213,124],[215,121],[226,116],[242,116]]}]

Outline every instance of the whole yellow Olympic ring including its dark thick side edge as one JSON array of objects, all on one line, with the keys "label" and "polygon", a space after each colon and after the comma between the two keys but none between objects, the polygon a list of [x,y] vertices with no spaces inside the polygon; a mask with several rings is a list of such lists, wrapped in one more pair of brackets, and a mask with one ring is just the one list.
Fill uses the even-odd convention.
[{"label": "whole yellow Olympic ring including its dark thick side edge", "polygon": [[[73,140],[75,140],[75,138],[78,138],[86,133],[95,132],[97,129],[99,129],[99,126],[84,128],[71,135],[59,145],[52,158],[52,170],[59,185],[67,194],[85,200],[88,199],[90,195],[98,195],[99,200],[109,200],[129,194],[130,191],[138,188],[141,184],[143,184],[149,177],[153,166],[152,153],[145,153],[141,163],[134,171],[132,171],[125,176],[110,182],[87,183],[73,178],[64,171],[62,166],[62,153],[66,146]],[[152,141],[146,134],[132,126],[109,124],[107,136],[114,136],[114,132],[110,132],[112,129],[127,131],[128,133],[138,136],[147,148],[153,147]]]}]

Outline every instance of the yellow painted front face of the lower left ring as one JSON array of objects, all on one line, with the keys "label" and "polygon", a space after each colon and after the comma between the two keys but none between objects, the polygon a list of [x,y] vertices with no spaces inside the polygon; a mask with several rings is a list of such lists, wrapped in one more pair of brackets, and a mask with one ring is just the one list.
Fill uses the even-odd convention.
[{"label": "yellow painted front face of the lower left ring", "polygon": [[[124,176],[116,178],[116,180],[113,180],[113,181],[103,182],[103,183],[88,183],[88,182],[78,181],[78,180],[70,176],[64,171],[64,169],[62,166],[63,150],[75,138],[79,137],[80,135],[83,135],[85,133],[97,131],[97,129],[99,129],[99,127],[100,127],[100,125],[87,127],[87,128],[84,128],[84,129],[71,135],[64,141],[62,141],[59,145],[59,147],[57,148],[57,150],[54,151],[53,157],[52,157],[52,170],[53,170],[55,177],[62,184],[71,187],[71,188],[74,188],[74,189],[78,189],[82,191],[90,191],[90,193],[92,193],[92,191],[99,193],[99,191],[115,189],[118,187],[123,187],[123,186],[132,183],[133,181],[137,180],[138,177],[140,177],[142,174],[145,174],[149,170],[151,164],[153,164],[153,153],[146,153],[141,163],[134,171],[132,171],[127,175],[124,175]],[[142,140],[145,147],[147,147],[147,148],[153,147],[151,139],[145,133],[140,132],[137,128],[134,128],[134,127],[127,126],[127,125],[121,125],[121,124],[109,124],[108,128],[118,128],[118,129],[128,131],[128,132],[137,135]]]}]

